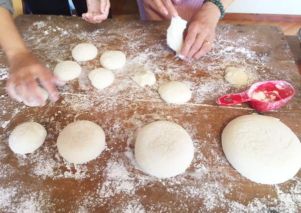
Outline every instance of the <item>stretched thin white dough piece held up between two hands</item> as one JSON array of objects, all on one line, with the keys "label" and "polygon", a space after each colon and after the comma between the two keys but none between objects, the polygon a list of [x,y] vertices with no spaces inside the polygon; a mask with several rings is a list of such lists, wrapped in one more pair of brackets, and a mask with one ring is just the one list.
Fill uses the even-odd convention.
[{"label": "stretched thin white dough piece held up between two hands", "polygon": [[182,51],[183,46],[183,32],[186,29],[187,21],[181,19],[177,16],[176,18],[172,17],[171,25],[167,29],[167,45],[176,51],[176,56],[180,57],[180,52]]}]

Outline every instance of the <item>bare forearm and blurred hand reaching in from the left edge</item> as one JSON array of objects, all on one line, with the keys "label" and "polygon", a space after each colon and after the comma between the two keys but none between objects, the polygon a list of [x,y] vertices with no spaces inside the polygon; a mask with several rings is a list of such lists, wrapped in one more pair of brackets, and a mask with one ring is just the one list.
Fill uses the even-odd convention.
[{"label": "bare forearm and blurred hand reaching in from the left edge", "polygon": [[44,105],[42,95],[38,91],[38,82],[49,93],[52,101],[59,95],[55,86],[62,85],[43,64],[29,52],[15,26],[10,12],[0,7],[0,46],[4,49],[10,65],[10,77],[7,81],[8,93],[17,101],[27,100]]}]

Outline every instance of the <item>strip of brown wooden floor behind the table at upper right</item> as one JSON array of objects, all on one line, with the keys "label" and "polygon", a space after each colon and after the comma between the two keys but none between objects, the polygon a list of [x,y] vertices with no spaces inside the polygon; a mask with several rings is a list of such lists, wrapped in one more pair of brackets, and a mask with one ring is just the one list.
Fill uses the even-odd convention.
[{"label": "strip of brown wooden floor behind the table at upper right", "polygon": [[242,20],[221,20],[220,24],[242,24],[242,25],[270,25],[280,27],[284,35],[296,36],[301,22],[262,22],[262,21],[242,21]]}]

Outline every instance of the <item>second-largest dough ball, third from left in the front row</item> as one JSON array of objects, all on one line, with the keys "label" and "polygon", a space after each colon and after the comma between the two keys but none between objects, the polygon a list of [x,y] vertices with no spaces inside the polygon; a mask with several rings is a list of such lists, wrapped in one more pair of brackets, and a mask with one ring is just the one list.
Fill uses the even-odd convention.
[{"label": "second-largest dough ball, third from left in the front row", "polygon": [[159,178],[183,173],[194,155],[191,137],[180,125],[155,121],[138,131],[135,157],[143,171]]}]

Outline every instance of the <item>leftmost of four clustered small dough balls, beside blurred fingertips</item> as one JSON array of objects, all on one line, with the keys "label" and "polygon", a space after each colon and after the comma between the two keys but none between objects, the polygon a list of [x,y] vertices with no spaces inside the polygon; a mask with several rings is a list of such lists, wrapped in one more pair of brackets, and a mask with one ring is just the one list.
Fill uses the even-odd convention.
[{"label": "leftmost of four clustered small dough balls, beside blurred fingertips", "polygon": [[77,78],[81,73],[81,67],[74,61],[62,61],[58,63],[53,74],[61,81],[70,81]]}]

